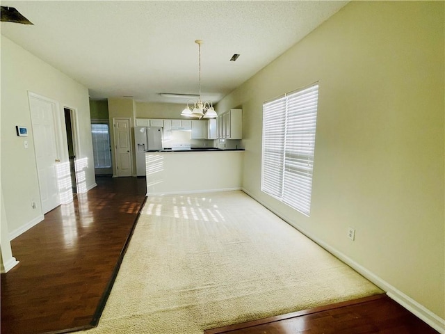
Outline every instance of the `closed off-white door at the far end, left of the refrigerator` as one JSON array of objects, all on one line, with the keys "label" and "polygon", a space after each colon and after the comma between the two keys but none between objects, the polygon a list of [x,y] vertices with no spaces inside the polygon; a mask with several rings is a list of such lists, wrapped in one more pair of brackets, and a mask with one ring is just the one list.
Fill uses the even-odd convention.
[{"label": "closed off-white door at the far end, left of the refrigerator", "polygon": [[116,175],[131,176],[131,137],[129,118],[113,118]]}]

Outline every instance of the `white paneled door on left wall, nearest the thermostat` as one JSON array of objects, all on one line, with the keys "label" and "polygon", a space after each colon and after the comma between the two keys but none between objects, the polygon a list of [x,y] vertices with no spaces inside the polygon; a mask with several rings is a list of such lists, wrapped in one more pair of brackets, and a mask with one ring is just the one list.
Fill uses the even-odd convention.
[{"label": "white paneled door on left wall, nearest the thermostat", "polygon": [[56,173],[56,164],[60,162],[60,158],[58,157],[54,123],[54,115],[58,110],[58,106],[56,102],[46,100],[38,95],[32,95],[31,93],[29,94],[29,106],[31,109],[42,213],[46,214],[60,205],[58,175]]}]

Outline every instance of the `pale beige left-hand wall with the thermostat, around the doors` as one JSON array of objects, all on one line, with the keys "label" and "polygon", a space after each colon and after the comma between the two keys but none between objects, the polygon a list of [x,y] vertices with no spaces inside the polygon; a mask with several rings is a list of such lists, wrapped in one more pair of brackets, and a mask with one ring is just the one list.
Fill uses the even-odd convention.
[{"label": "pale beige left-hand wall with the thermostat, around the doors", "polygon": [[[77,157],[87,161],[82,187],[95,186],[88,89],[1,36],[1,187],[10,233],[43,218],[28,92],[58,101],[60,120],[64,120],[64,106],[76,110],[80,144]],[[16,135],[16,125],[28,127],[28,149],[24,148],[24,137]],[[57,126],[63,129],[61,146],[67,148],[64,121]],[[62,162],[67,162],[67,149],[62,154]],[[31,199],[38,203],[36,209],[31,207]]]}]

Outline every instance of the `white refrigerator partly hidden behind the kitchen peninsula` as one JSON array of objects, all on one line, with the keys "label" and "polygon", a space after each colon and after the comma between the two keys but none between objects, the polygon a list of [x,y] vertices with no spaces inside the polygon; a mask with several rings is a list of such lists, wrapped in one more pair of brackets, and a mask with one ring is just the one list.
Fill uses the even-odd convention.
[{"label": "white refrigerator partly hidden behind the kitchen peninsula", "polygon": [[145,176],[145,151],[162,150],[162,127],[134,127],[136,175]]}]

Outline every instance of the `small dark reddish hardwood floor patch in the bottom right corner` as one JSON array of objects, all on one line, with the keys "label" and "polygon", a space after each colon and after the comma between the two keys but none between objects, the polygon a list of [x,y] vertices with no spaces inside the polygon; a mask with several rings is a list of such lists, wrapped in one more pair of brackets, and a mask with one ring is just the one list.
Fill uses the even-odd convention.
[{"label": "small dark reddish hardwood floor patch in the bottom right corner", "polygon": [[204,331],[204,334],[437,334],[386,294]]}]

